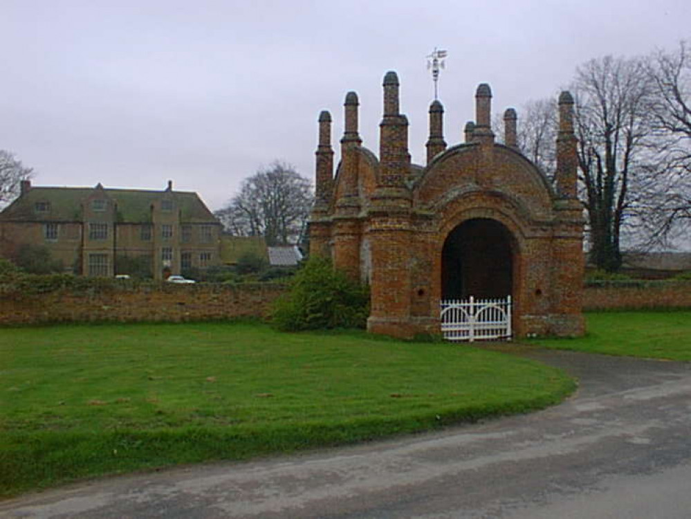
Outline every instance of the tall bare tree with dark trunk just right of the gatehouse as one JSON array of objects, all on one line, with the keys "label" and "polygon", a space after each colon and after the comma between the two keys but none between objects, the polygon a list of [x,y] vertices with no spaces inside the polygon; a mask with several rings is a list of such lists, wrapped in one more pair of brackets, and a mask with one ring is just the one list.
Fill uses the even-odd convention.
[{"label": "tall bare tree with dark trunk just right of the gatehouse", "polygon": [[591,261],[616,271],[623,227],[645,219],[643,196],[661,172],[648,109],[654,89],[643,60],[611,56],[578,67],[574,86]]}]

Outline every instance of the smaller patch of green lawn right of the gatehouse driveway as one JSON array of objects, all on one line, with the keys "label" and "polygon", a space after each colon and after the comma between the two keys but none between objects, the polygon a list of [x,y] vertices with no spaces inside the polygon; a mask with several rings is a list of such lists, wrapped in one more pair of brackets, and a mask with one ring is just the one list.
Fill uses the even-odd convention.
[{"label": "smaller patch of green lawn right of the gatehouse driveway", "polygon": [[531,340],[556,349],[691,361],[691,311],[598,312],[581,338]]}]

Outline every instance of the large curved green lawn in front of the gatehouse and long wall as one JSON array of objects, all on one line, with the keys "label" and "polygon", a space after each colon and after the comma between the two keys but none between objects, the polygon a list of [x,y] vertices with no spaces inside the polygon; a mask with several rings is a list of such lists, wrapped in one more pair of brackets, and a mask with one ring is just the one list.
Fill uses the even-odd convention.
[{"label": "large curved green lawn in front of the gatehouse and long wall", "polygon": [[0,329],[0,496],[344,444],[557,403],[532,361],[255,324]]}]

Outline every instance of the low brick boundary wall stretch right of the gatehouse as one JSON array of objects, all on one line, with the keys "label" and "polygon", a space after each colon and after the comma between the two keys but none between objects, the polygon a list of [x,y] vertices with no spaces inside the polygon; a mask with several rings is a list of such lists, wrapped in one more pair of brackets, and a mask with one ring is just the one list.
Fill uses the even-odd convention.
[{"label": "low brick boundary wall stretch right of the gatehouse", "polygon": [[583,310],[691,308],[691,282],[589,283]]}]

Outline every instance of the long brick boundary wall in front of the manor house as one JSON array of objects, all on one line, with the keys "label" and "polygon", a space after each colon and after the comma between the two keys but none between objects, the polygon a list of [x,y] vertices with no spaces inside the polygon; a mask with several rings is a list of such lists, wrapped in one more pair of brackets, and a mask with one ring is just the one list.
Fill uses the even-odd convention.
[{"label": "long brick boundary wall in front of the manor house", "polygon": [[264,318],[284,284],[123,283],[111,289],[57,289],[0,295],[0,325],[53,322],[181,322]]}]

